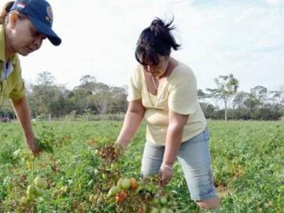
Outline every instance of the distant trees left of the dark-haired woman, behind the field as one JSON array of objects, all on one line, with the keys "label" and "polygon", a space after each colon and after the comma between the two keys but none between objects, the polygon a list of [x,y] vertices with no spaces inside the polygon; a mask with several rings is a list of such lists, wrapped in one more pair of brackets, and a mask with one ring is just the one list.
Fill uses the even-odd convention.
[{"label": "distant trees left of the dark-haired woman, behind the field", "polygon": [[[42,114],[121,114],[127,109],[126,87],[109,87],[90,75],[82,76],[79,86],[67,89],[56,84],[50,72],[42,72],[26,90],[33,118]],[[9,102],[0,109],[0,114],[7,112],[13,116]]]}]

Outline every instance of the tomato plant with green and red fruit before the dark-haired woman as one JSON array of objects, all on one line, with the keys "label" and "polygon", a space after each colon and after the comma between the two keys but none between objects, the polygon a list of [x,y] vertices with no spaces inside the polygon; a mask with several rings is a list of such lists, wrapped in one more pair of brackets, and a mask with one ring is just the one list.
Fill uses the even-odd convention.
[{"label": "tomato plant with green and red fruit before the dark-haired woman", "polygon": [[96,146],[94,155],[100,158],[99,167],[94,175],[94,193],[89,195],[89,202],[95,212],[102,206],[115,203],[115,212],[178,212],[176,203],[163,188],[160,188],[159,176],[147,178],[126,178],[122,173],[123,160],[121,147],[115,145]]}]

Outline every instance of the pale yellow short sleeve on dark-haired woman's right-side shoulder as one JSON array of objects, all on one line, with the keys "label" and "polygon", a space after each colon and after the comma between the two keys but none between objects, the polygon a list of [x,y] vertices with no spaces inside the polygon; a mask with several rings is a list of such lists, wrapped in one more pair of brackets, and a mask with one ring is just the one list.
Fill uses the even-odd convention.
[{"label": "pale yellow short sleeve on dark-haired woman's right-side shoulder", "polygon": [[169,87],[168,107],[178,114],[194,114],[197,111],[197,81],[192,70],[182,72]]}]

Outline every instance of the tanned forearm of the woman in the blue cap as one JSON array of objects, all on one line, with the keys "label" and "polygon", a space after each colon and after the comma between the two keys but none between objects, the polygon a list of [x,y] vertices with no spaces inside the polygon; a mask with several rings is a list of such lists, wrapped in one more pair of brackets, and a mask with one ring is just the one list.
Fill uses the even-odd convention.
[{"label": "tanned forearm of the woman in the blue cap", "polygon": [[31,115],[28,109],[28,102],[26,96],[21,99],[11,100],[13,104],[13,109],[16,113],[18,121],[23,128],[23,133],[26,136],[26,141],[32,140],[34,138],[33,130],[31,127]]}]

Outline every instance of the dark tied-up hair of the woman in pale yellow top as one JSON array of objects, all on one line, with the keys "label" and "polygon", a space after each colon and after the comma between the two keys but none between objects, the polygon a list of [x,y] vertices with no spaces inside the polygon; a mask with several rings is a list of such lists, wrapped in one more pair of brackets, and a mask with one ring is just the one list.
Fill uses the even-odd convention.
[{"label": "dark tied-up hair of the woman in pale yellow top", "polygon": [[150,60],[153,65],[158,65],[158,54],[170,55],[170,50],[178,50],[180,44],[175,41],[170,31],[175,29],[171,26],[173,19],[169,23],[165,23],[160,18],[155,18],[151,25],[144,29],[138,39],[136,45],[135,57],[142,65],[146,65],[145,60]]}]

